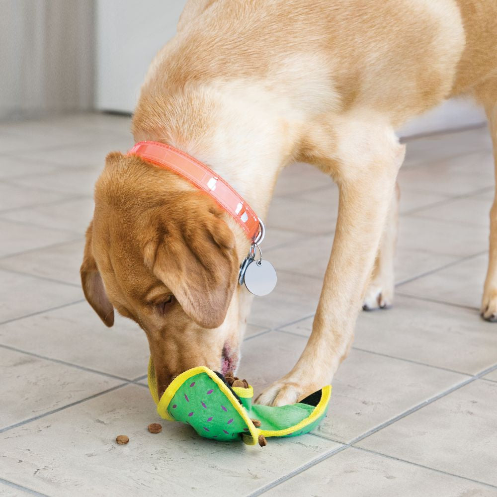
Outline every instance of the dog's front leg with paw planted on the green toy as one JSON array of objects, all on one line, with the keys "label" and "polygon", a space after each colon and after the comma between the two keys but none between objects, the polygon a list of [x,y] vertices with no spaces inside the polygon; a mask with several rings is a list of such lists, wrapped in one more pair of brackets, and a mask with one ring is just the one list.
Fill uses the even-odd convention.
[{"label": "dog's front leg with paw planted on the green toy", "polygon": [[295,367],[258,397],[260,404],[293,404],[319,390],[348,353],[404,159],[405,147],[386,141],[366,164],[340,161],[338,219],[312,334]]}]

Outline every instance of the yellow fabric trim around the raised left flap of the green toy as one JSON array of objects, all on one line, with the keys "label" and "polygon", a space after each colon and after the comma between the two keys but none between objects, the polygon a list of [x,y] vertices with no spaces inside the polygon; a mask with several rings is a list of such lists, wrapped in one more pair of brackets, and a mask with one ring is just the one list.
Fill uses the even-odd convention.
[{"label": "yellow fabric trim around the raised left flap of the green toy", "polygon": [[[156,379],[155,379],[155,371],[154,367],[151,366],[152,364],[152,359],[149,362],[149,388],[150,393],[152,394],[152,397],[154,400],[158,397],[157,394],[157,388],[155,390],[152,390],[152,387],[156,387]],[[151,371],[153,374],[151,375]],[[224,384],[223,381],[214,373],[211,371],[209,368],[205,366],[198,366],[196,368],[189,369],[188,371],[185,371],[184,373],[181,373],[180,375],[176,376],[174,380],[170,383],[170,385],[167,387],[166,392],[164,392],[163,396],[159,400],[159,402],[156,401],[157,404],[157,412],[161,417],[164,419],[167,419],[168,421],[175,421],[175,419],[167,412],[167,407],[169,406],[169,403],[171,402],[172,398],[174,397],[174,394],[178,390],[178,388],[188,379],[191,378],[192,376],[195,376],[196,374],[199,373],[207,373],[207,375],[214,380],[214,382],[218,385],[218,387],[221,389],[221,392],[223,392],[228,400],[231,402],[233,407],[236,409],[237,413],[240,414],[244,421],[247,423],[248,430],[250,432],[251,437],[248,437],[248,433],[244,434],[244,442],[248,445],[255,445],[258,440],[259,440],[259,433],[260,429],[256,428],[254,424],[252,423],[252,420],[248,417],[247,411],[245,411],[244,407],[238,402],[236,397],[233,395],[231,390]],[[252,391],[253,395],[253,390],[252,387],[248,388],[237,388],[237,390],[243,390],[243,391]],[[155,391],[155,395],[154,395]],[[237,392],[238,395],[238,392]],[[247,440],[248,437],[248,440]],[[252,443],[249,443],[249,440],[251,439]]]}]

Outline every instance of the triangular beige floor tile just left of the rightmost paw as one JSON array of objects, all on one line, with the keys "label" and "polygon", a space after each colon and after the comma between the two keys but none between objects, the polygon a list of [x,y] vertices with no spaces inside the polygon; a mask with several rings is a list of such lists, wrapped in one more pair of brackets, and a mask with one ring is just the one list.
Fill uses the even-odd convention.
[{"label": "triangular beige floor tile just left of the rightmost paw", "polygon": [[397,291],[414,297],[480,309],[487,261],[487,254],[472,257],[401,285]]}]

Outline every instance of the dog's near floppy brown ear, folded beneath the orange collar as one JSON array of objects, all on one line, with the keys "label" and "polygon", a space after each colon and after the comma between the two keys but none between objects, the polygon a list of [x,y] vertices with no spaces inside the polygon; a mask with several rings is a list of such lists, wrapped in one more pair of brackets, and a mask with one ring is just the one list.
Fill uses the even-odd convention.
[{"label": "dog's near floppy brown ear, folded beneath the orange collar", "polygon": [[184,194],[145,245],[145,264],[171,290],[183,311],[203,328],[226,318],[238,263],[235,237],[222,211],[202,194]]}]

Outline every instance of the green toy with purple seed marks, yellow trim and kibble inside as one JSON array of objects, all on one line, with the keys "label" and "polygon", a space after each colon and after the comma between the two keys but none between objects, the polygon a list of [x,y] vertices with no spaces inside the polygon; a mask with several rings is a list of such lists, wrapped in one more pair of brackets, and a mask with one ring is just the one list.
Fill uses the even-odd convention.
[{"label": "green toy with purple seed marks, yellow trim and kibble inside", "polygon": [[169,421],[187,423],[202,437],[265,445],[265,437],[309,433],[325,417],[331,385],[298,404],[281,407],[252,405],[253,389],[231,388],[226,379],[200,366],[177,376],[159,399],[152,359],[149,389],[157,412]]}]

